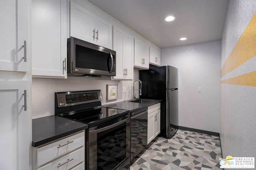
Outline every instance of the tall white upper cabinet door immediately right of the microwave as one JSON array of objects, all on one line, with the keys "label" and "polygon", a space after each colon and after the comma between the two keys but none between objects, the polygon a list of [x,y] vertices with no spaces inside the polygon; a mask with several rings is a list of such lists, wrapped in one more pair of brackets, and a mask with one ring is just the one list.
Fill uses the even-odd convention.
[{"label": "tall white upper cabinet door immediately right of the microwave", "polygon": [[113,29],[113,50],[116,51],[116,76],[114,79],[124,78],[123,55],[124,55],[124,32],[117,27]]}]

